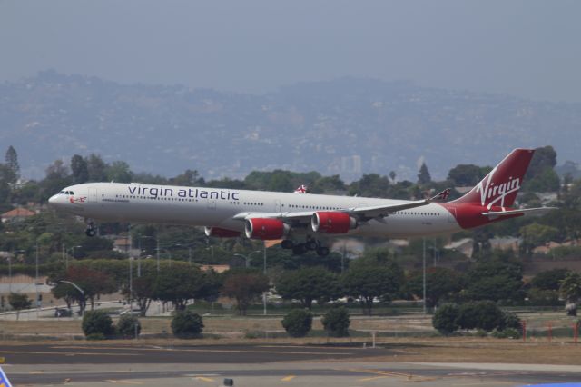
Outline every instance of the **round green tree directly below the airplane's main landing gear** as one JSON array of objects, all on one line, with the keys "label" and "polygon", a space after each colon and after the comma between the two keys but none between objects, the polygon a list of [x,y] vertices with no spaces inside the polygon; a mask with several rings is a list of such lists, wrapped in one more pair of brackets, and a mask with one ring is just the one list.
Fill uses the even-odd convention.
[{"label": "round green tree directly below the airplane's main landing gear", "polygon": [[300,300],[310,309],[313,300],[329,301],[339,294],[339,278],[322,267],[305,267],[283,272],[276,291],[283,299]]}]

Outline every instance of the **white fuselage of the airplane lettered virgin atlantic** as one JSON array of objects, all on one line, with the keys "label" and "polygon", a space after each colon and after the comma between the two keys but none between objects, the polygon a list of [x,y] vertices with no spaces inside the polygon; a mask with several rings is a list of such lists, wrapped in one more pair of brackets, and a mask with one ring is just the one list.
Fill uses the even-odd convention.
[{"label": "white fuselage of the airplane lettered virgin atlantic", "polygon": [[[408,203],[402,200],[323,194],[275,193],[153,184],[87,183],[67,187],[50,198],[55,207],[84,218],[132,223],[172,223],[244,231],[241,213],[304,213]],[[438,203],[391,213],[359,224],[350,235],[411,237],[460,230]],[[312,233],[309,229],[291,233]]]}]

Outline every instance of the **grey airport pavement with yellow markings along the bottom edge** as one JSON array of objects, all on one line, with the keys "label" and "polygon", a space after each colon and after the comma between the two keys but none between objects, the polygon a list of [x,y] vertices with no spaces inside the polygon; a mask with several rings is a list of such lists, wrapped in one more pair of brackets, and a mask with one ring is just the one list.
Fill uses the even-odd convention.
[{"label": "grey airport pavement with yellow markings along the bottom edge", "polygon": [[[581,366],[376,362],[387,349],[349,346],[3,346],[15,385],[510,386],[581,382]],[[369,357],[369,362],[365,361]],[[143,360],[147,360],[143,362]],[[413,385],[413,384],[412,384]]]}]

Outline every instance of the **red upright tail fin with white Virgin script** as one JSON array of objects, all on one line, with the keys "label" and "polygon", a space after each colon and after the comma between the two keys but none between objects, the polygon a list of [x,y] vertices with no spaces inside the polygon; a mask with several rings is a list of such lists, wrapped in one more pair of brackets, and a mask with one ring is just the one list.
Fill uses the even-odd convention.
[{"label": "red upright tail fin with white Virgin script", "polygon": [[473,203],[488,209],[492,206],[510,207],[515,203],[534,153],[533,149],[515,149],[469,193],[451,203]]}]

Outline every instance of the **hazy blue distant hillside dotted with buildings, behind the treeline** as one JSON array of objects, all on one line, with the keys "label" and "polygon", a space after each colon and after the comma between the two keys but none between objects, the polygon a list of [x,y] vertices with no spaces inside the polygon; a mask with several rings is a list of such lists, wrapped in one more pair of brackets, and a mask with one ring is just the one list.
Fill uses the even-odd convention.
[{"label": "hazy blue distant hillside dotted with buildings, behind the treeline", "polygon": [[[496,164],[512,148],[553,145],[579,161],[581,104],[533,102],[370,79],[295,84],[265,95],[115,84],[46,71],[0,84],[0,144],[26,176],[73,154],[134,171],[207,178],[274,168],[415,180],[425,159],[443,178],[456,164]],[[0,150],[4,152],[4,150]]]}]

